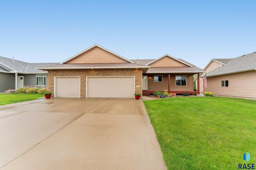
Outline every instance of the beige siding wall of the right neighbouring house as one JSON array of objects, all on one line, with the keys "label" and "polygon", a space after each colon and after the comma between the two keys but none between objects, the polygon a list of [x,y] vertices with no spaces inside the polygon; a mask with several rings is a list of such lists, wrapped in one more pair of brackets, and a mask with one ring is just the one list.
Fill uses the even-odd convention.
[{"label": "beige siding wall of the right neighbouring house", "polygon": [[[228,80],[228,87],[220,87],[221,80]],[[256,98],[256,71],[207,77],[204,92],[215,95]]]}]

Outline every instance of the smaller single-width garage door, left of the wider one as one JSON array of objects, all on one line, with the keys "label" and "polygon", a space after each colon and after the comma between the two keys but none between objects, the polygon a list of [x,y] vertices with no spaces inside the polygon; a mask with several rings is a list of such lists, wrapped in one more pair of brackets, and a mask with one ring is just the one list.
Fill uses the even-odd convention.
[{"label": "smaller single-width garage door, left of the wider one", "polygon": [[56,77],[55,83],[57,98],[80,98],[79,77]]}]

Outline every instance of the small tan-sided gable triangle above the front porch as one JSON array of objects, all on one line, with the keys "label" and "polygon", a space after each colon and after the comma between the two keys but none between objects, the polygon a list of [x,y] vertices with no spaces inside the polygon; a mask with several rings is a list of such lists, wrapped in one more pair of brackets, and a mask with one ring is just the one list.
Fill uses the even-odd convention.
[{"label": "small tan-sided gable triangle above the front porch", "polygon": [[154,63],[149,64],[149,66],[152,66],[152,67],[180,67],[180,66],[187,66],[187,65],[166,56],[166,57],[163,57],[162,59],[159,59],[158,61],[155,61]]}]

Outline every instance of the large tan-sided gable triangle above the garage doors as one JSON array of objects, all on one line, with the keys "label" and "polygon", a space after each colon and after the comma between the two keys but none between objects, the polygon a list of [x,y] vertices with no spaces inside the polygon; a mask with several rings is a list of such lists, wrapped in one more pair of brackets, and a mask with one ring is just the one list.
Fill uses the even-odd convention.
[{"label": "large tan-sided gable triangle above the garage doors", "polygon": [[100,47],[94,47],[70,61],[66,64],[77,64],[77,63],[129,63],[128,61],[108,52]]}]

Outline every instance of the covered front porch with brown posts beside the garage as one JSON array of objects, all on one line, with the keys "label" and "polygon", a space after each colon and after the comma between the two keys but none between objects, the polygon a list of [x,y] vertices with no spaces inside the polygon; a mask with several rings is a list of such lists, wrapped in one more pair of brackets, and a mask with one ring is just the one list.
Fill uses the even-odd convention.
[{"label": "covered front porch with brown posts beside the garage", "polygon": [[[199,74],[198,78],[199,78]],[[198,81],[200,82],[200,81]],[[200,87],[200,86],[198,86]],[[200,89],[194,90],[194,73],[156,73],[142,75],[142,95],[150,96],[156,91],[174,94],[200,94]]]}]

